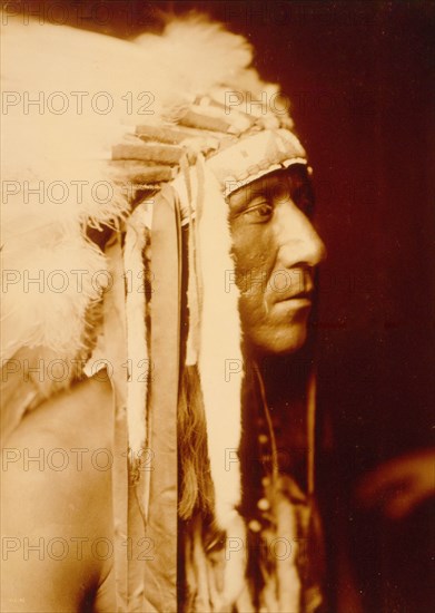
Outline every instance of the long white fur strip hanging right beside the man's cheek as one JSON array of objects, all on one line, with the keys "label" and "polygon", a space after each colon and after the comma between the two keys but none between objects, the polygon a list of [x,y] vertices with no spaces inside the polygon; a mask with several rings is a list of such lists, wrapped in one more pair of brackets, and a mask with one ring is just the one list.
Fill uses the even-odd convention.
[{"label": "long white fur strip hanging right beside the man's cheek", "polygon": [[[226,528],[240,502],[243,356],[237,290],[226,292],[226,271],[234,270],[228,206],[216,178],[205,172],[206,200],[199,218],[199,256],[202,274],[199,372],[207,419],[216,518]],[[228,374],[228,364],[240,364]]]}]

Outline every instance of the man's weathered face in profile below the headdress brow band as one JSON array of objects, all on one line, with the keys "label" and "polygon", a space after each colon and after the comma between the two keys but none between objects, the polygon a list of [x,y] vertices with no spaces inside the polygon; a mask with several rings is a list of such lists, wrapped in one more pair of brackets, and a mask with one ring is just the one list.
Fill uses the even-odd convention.
[{"label": "man's weathered face in profile below the headdress brow band", "polygon": [[307,335],[314,267],[325,255],[310,222],[307,168],[261,177],[228,204],[245,339],[255,352],[297,351]]}]

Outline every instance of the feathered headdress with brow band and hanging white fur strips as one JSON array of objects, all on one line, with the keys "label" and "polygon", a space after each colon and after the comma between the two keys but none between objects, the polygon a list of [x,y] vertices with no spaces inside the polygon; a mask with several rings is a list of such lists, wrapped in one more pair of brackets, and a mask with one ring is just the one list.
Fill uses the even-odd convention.
[{"label": "feathered headdress with brow band and hanging white fur strips", "polygon": [[[176,486],[180,361],[196,366],[215,520],[240,537],[240,470],[227,458],[240,444],[243,370],[226,380],[225,367],[243,356],[238,293],[224,283],[235,266],[225,197],[306,163],[278,88],[250,61],[243,37],[199,18],[131,42],[13,19],[2,29],[3,434],[99,362],[130,470],[145,449],[157,453],[166,419]],[[91,239],[107,227],[120,232],[101,249]],[[152,479],[138,488],[150,525]],[[244,565],[228,568],[233,602]]]}]

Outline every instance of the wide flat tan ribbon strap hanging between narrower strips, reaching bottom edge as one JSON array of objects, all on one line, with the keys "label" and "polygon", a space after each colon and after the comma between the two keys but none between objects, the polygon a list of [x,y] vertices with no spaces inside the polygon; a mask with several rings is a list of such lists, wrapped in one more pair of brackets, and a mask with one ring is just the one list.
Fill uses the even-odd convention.
[{"label": "wide flat tan ribbon strap hanging between narrower strips, reaching bottom edge", "polygon": [[[148,509],[145,611],[177,611],[177,403],[180,351],[180,213],[176,192],[156,196],[151,231],[151,380],[144,473]],[[146,483],[149,479],[149,487]],[[149,490],[149,497],[147,492]]]}]

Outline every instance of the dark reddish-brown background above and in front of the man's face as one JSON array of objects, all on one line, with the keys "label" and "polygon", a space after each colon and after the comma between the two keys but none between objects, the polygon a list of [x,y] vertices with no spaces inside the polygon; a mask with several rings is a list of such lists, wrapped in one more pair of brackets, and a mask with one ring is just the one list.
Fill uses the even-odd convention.
[{"label": "dark reddish-brown background above and in front of the man's face", "polygon": [[429,611],[429,514],[388,523],[362,510],[355,486],[383,460],[433,444],[434,2],[30,4],[120,37],[159,29],[161,10],[204,11],[247,36],[261,76],[283,85],[328,249],[318,475],[330,610]]}]

